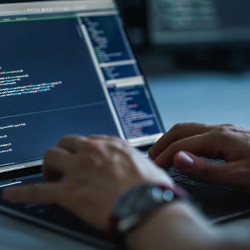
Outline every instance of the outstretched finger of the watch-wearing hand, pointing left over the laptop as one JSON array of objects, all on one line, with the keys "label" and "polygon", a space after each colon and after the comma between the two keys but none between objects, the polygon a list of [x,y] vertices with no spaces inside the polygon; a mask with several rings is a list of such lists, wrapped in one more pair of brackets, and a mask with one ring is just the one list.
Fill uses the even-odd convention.
[{"label": "outstretched finger of the watch-wearing hand, pointing left over the laptop", "polygon": [[46,183],[33,186],[11,187],[3,191],[4,199],[21,203],[57,203],[61,185]]}]

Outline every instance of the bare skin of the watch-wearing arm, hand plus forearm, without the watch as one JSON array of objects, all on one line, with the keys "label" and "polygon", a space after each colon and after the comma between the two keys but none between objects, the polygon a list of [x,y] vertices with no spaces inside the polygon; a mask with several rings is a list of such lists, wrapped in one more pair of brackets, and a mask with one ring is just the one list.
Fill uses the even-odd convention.
[{"label": "bare skin of the watch-wearing arm, hand plus forearm, without the watch", "polygon": [[[106,136],[61,139],[44,156],[46,183],[3,192],[12,202],[54,203],[107,232],[112,207],[141,183],[173,185],[162,168],[124,141]],[[195,236],[195,237],[194,237]],[[181,239],[181,240],[180,240]],[[129,249],[249,249],[249,227],[240,234],[212,226],[186,201],[163,206],[126,237]]]}]

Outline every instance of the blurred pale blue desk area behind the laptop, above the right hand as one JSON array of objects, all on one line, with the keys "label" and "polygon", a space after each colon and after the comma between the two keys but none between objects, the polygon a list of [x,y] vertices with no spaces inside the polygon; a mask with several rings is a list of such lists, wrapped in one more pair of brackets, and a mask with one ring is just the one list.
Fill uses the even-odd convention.
[{"label": "blurred pale blue desk area behind the laptop, above the right hand", "polygon": [[250,73],[190,73],[149,83],[166,130],[194,121],[250,127]]}]

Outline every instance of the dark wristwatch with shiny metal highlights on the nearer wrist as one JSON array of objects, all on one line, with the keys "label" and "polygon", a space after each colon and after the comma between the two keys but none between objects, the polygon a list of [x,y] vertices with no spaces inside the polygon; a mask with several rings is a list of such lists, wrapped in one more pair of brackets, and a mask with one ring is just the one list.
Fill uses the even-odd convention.
[{"label": "dark wristwatch with shiny metal highlights on the nearer wrist", "polygon": [[125,192],[116,202],[110,218],[110,234],[124,238],[155,210],[176,199],[188,200],[182,188],[166,184],[140,184]]}]

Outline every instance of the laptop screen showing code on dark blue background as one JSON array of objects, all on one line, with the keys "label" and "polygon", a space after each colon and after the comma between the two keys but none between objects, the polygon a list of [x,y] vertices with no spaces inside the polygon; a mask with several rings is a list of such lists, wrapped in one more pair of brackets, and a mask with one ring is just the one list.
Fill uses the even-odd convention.
[{"label": "laptop screen showing code on dark blue background", "polygon": [[0,6],[0,172],[41,164],[69,134],[162,135],[113,1]]}]

